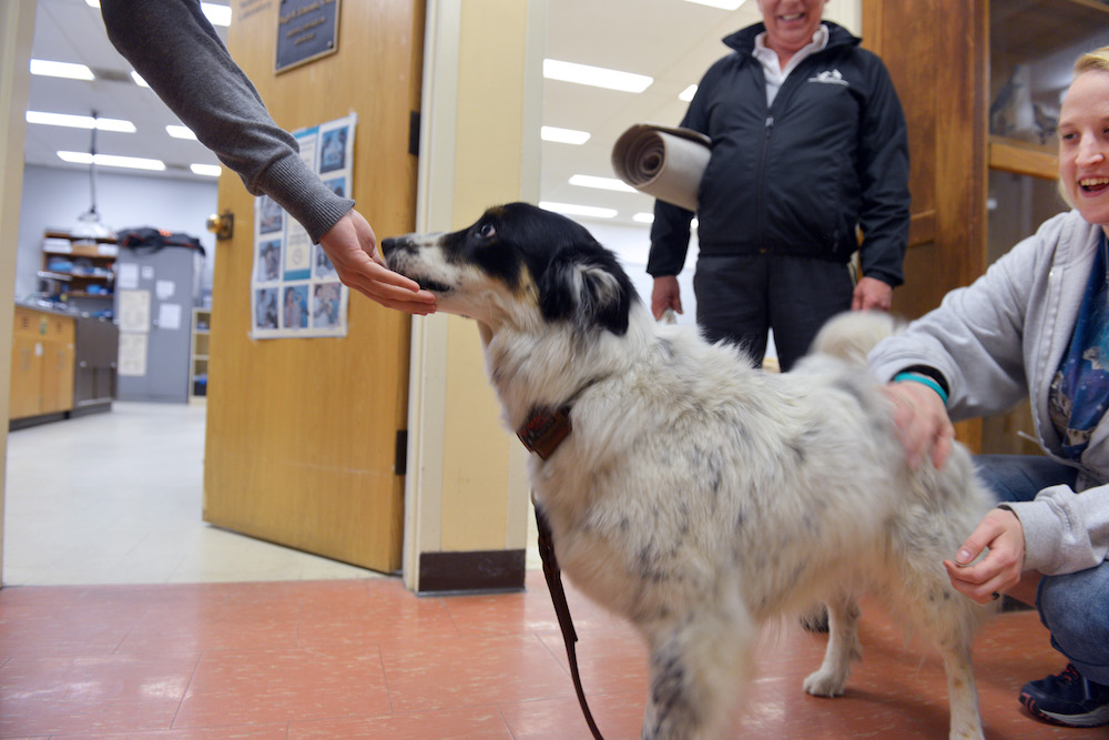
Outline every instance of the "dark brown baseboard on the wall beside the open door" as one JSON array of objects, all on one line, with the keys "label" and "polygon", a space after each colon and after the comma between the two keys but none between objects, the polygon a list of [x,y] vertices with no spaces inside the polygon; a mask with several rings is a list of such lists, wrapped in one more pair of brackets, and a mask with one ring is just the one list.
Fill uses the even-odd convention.
[{"label": "dark brown baseboard on the wall beside the open door", "polygon": [[518,591],[523,588],[526,550],[420,553],[420,594]]}]

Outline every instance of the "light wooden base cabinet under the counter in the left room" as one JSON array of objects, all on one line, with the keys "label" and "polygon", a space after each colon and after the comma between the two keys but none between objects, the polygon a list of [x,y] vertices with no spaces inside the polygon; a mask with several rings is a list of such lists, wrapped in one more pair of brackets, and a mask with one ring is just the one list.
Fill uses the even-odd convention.
[{"label": "light wooden base cabinet under the counter in the left room", "polygon": [[9,418],[73,407],[74,320],[16,306]]}]

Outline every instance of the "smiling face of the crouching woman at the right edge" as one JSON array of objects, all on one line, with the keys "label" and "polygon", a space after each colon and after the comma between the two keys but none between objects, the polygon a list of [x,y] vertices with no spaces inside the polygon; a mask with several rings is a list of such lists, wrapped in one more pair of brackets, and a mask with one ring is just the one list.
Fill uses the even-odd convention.
[{"label": "smiling face of the crouching woman at the right edge", "polygon": [[1059,111],[1059,179],[1071,204],[1109,227],[1109,71],[1082,72]]}]

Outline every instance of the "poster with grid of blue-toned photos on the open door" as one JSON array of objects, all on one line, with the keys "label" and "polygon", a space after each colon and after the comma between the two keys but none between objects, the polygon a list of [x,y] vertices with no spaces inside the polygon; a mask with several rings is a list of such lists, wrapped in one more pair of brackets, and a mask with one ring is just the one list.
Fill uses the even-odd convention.
[{"label": "poster with grid of blue-toned photos on the open door", "polygon": [[[294,131],[301,159],[324,184],[349,197],[355,114]],[[254,201],[251,336],[346,336],[348,288],[308,233],[266,195]]]}]

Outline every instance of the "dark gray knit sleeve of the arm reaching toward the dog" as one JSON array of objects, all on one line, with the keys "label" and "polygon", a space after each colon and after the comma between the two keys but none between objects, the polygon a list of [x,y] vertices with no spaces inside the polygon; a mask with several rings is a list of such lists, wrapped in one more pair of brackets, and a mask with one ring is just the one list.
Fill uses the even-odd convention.
[{"label": "dark gray knit sleeve of the arm reaching toward the dog", "polygon": [[296,140],[274,123],[197,0],[102,0],[101,13],[109,39],[170,110],[313,242],[354,206],[301,160]]}]

